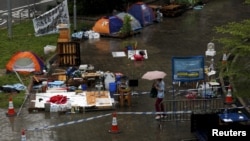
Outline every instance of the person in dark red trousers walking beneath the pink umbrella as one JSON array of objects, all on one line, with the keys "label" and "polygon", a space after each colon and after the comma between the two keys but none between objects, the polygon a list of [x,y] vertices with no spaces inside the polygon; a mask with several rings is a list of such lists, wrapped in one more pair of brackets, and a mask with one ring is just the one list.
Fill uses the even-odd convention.
[{"label": "person in dark red trousers walking beneath the pink umbrella", "polygon": [[[162,103],[165,97],[165,82],[163,79],[157,79],[154,82],[154,87],[157,89],[157,97],[155,100],[155,110],[156,112],[164,112],[164,105]],[[166,118],[166,114],[157,114],[155,119]]]}]

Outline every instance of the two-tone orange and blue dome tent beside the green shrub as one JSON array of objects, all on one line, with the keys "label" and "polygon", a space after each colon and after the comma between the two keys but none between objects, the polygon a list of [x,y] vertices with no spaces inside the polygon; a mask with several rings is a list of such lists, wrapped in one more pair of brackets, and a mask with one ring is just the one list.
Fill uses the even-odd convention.
[{"label": "two-tone orange and blue dome tent beside the green shrub", "polygon": [[120,31],[123,21],[117,16],[102,17],[96,21],[92,30],[100,34],[115,34]]}]

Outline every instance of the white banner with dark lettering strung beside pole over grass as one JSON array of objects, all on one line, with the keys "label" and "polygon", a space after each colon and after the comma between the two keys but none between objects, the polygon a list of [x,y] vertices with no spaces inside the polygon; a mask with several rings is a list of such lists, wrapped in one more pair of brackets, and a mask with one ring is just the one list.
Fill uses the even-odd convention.
[{"label": "white banner with dark lettering strung beside pole over grass", "polygon": [[67,0],[33,19],[35,36],[58,33],[58,24],[70,25]]}]

